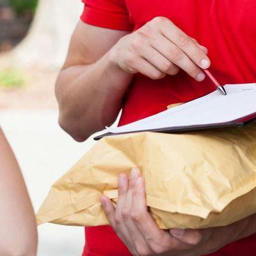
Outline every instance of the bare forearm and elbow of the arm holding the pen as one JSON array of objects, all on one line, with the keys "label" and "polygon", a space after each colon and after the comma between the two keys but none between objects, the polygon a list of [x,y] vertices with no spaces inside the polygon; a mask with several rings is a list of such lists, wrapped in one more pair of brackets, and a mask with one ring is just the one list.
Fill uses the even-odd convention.
[{"label": "bare forearm and elbow of the arm holding the pen", "polygon": [[78,141],[115,121],[131,83],[132,74],[117,67],[109,55],[91,65],[66,68],[58,77],[60,125]]}]

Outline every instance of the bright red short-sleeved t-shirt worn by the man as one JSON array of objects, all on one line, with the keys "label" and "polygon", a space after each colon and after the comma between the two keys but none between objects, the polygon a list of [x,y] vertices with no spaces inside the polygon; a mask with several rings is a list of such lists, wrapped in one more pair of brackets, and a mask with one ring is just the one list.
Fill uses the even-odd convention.
[{"label": "bright red short-sleeved t-shirt worn by the man", "polygon": [[[133,31],[157,16],[172,20],[209,49],[210,70],[226,83],[256,81],[255,0],[83,0],[81,20],[94,26]],[[136,74],[124,99],[120,125],[187,102],[215,90],[208,79],[198,83],[184,72],[158,81]],[[251,256],[256,234],[228,244],[212,256]],[[86,256],[131,255],[111,227],[86,228]]]}]

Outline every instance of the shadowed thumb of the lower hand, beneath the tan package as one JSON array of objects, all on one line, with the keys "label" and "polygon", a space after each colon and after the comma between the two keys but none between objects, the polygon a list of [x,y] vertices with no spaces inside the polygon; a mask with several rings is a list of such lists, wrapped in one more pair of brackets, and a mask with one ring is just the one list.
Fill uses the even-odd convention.
[{"label": "shadowed thumb of the lower hand, beneath the tan package", "polygon": [[203,234],[200,230],[172,228],[170,229],[170,234],[183,243],[191,245],[199,244],[203,239]]}]

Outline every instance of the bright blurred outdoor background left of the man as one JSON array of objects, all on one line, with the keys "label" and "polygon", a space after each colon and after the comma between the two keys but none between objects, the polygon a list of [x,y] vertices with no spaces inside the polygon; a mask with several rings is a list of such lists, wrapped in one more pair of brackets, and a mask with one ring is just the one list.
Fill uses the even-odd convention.
[{"label": "bright blurred outdoor background left of the man", "polygon": [[[58,126],[54,82],[80,0],[0,0],[0,125],[17,156],[37,211],[50,186],[92,147]],[[83,227],[38,228],[38,256],[81,255]]]}]

